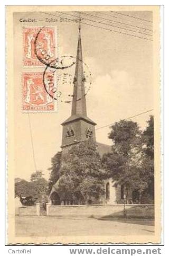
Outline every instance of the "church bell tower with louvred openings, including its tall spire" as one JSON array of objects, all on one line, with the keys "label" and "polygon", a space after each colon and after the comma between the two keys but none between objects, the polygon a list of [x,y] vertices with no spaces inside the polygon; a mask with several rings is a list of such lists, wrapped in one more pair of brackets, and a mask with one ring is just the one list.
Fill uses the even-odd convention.
[{"label": "church bell tower with louvred openings, including its tall spire", "polygon": [[79,38],[76,58],[76,68],[73,81],[73,99],[71,116],[62,123],[62,152],[72,145],[91,139],[96,142],[95,125],[87,117],[86,96],[85,96],[85,75],[83,73],[81,27],[79,22]]}]

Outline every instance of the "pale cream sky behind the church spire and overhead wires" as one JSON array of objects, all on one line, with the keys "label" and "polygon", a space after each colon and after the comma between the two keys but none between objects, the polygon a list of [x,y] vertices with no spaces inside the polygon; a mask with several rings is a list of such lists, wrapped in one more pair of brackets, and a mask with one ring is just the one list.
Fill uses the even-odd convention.
[{"label": "pale cream sky behind the church spire and overhead wires", "polygon": [[[138,27],[152,29],[150,22],[110,12],[87,12],[106,19],[125,22]],[[152,20],[151,12],[125,12],[127,15],[140,19]],[[56,48],[59,55],[76,57],[78,42],[78,24],[76,22],[45,22],[54,18],[49,13],[15,13],[14,14],[14,136],[15,136],[15,177],[29,180],[35,171],[29,118],[22,112],[22,73],[43,71],[44,68],[23,67],[22,28],[46,25],[57,28]],[[69,14],[73,14],[70,12]],[[76,14],[77,15],[77,14]],[[23,23],[20,18],[35,17],[42,21]],[[71,16],[67,16],[71,19]],[[86,16],[87,17],[87,16]],[[57,17],[55,17],[57,18]],[[73,18],[73,17],[72,17]],[[60,20],[60,18],[58,17]],[[89,17],[89,19],[92,19]],[[96,19],[95,19],[96,20]],[[83,20],[85,22],[85,20]],[[91,23],[89,21],[86,21]],[[104,21],[103,21],[104,22]],[[97,23],[91,23],[100,26]],[[115,23],[114,23],[115,24]],[[117,24],[116,24],[117,25]],[[102,26],[109,29],[113,27]],[[117,29],[118,31],[123,31]],[[137,31],[141,31],[137,29]],[[125,31],[126,32],[126,31]],[[132,32],[126,32],[132,33]],[[143,36],[143,35],[142,35]],[[86,96],[88,117],[97,123],[96,129],[153,109],[153,43],[149,40],[127,36],[104,29],[81,24],[81,40],[83,61],[92,74],[91,89]],[[71,90],[71,89],[70,89]],[[51,157],[61,150],[61,123],[70,116],[71,104],[59,103],[57,112],[30,113],[33,148],[37,170],[42,170],[44,178],[48,179]],[[141,129],[146,126],[149,112],[133,118]],[[108,139],[109,127],[96,130],[96,140],[111,145]]]}]

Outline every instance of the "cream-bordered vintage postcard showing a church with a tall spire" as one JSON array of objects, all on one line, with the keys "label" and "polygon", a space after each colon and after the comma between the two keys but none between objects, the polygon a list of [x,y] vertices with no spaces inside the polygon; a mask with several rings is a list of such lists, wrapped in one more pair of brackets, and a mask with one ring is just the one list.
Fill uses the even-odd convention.
[{"label": "cream-bordered vintage postcard showing a church with a tall spire", "polygon": [[159,244],[160,17],[6,6],[7,244]]}]

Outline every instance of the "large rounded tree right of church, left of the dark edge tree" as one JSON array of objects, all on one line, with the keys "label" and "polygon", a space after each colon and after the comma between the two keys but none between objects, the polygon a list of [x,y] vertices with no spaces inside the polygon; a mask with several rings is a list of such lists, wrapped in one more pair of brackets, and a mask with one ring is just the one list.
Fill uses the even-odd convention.
[{"label": "large rounded tree right of church, left of the dark edge tree", "polygon": [[126,197],[129,191],[141,190],[139,157],[142,150],[141,131],[136,122],[120,120],[111,126],[108,136],[112,140],[112,152],[102,157],[108,178],[123,185]]}]

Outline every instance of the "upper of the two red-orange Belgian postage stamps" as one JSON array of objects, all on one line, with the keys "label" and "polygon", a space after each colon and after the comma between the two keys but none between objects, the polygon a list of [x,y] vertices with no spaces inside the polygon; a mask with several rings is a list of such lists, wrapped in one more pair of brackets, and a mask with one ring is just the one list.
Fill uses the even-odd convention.
[{"label": "upper of the two red-orange Belgian postage stamps", "polygon": [[[35,38],[41,27],[27,27],[23,29],[24,66],[42,66],[35,55]],[[39,34],[36,49],[42,56],[47,54],[50,59],[55,56],[55,29],[45,27]]]}]

